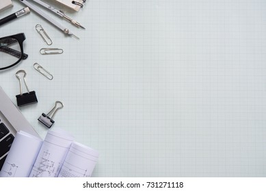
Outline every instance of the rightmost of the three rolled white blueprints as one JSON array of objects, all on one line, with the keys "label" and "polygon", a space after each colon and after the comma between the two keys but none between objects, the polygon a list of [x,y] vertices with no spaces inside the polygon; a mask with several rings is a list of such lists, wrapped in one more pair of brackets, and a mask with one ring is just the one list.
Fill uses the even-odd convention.
[{"label": "rightmost of the three rolled white blueprints", "polygon": [[98,151],[73,142],[58,177],[90,177],[98,156]]}]

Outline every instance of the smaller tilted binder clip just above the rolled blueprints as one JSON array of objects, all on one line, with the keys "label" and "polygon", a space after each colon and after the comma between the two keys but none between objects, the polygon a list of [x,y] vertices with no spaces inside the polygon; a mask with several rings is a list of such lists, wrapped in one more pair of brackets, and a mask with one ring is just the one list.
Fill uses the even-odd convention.
[{"label": "smaller tilted binder clip just above the rolled blueprints", "polygon": [[[60,106],[57,106],[57,105],[60,105]],[[63,108],[63,107],[64,105],[62,102],[56,101],[55,106],[52,108],[52,110],[47,114],[42,113],[42,115],[38,118],[38,121],[44,124],[44,126],[46,126],[47,128],[51,128],[51,126],[53,126],[53,123],[55,123],[55,121],[53,121],[53,117],[55,116],[55,113],[60,108]]]}]

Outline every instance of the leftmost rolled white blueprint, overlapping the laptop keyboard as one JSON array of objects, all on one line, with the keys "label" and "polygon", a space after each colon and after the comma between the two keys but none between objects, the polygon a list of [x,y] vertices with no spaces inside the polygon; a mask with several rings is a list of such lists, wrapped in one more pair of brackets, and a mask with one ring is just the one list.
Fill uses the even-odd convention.
[{"label": "leftmost rolled white blueprint, overlapping the laptop keyboard", "polygon": [[0,177],[29,177],[41,145],[40,138],[27,132],[17,132]]}]

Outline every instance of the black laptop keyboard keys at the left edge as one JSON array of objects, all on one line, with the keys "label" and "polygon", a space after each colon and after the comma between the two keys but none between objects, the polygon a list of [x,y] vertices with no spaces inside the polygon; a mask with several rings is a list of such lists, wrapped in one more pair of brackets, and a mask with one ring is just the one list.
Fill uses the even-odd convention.
[{"label": "black laptop keyboard keys at the left edge", "polygon": [[[0,119],[0,140],[3,138],[3,140],[0,141],[0,158],[2,156],[4,156],[5,153],[8,153],[8,151],[10,150],[10,147],[14,141],[14,136],[12,134],[9,134],[9,133],[10,133],[10,131],[5,126],[5,124],[1,122],[1,119]],[[8,135],[8,136],[6,136],[6,135]],[[1,168],[3,166],[3,162],[5,162],[5,158],[6,158],[6,156],[0,160],[0,171],[1,171]]]}]

